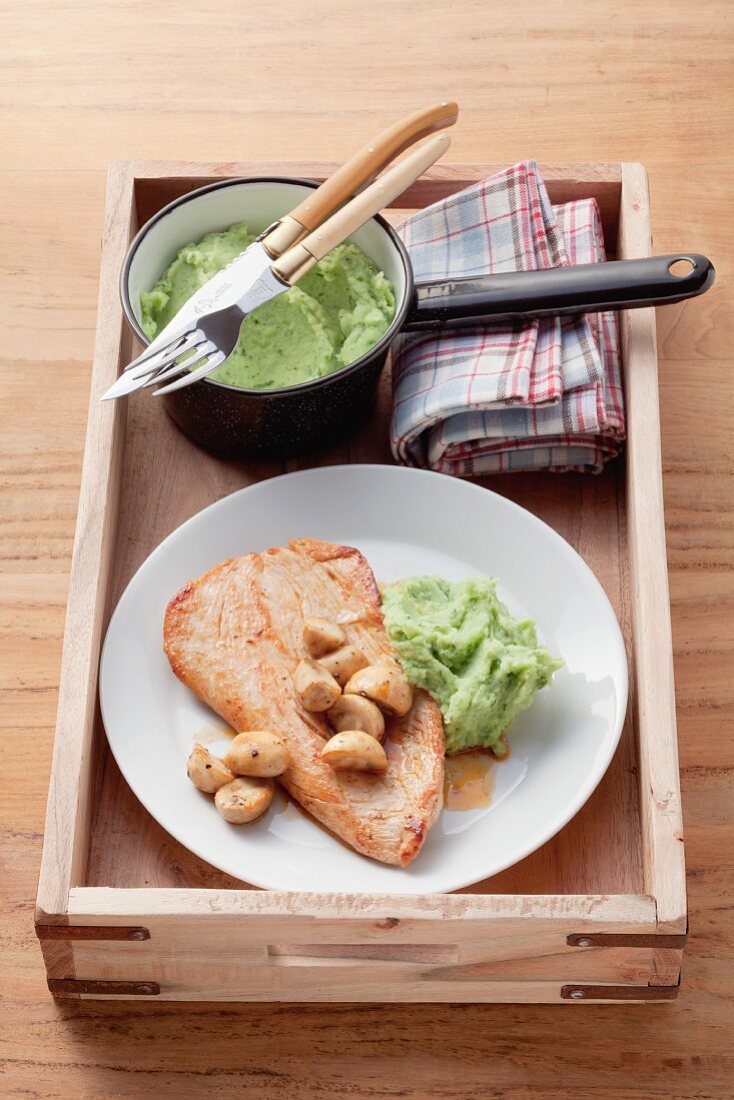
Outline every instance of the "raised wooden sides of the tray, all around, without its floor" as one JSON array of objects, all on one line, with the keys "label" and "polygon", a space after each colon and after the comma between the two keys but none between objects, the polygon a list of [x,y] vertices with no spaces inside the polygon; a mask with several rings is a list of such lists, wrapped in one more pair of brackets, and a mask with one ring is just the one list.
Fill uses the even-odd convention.
[{"label": "raised wooden sides of the tray, all around, without its floor", "polygon": [[[114,597],[125,441],[124,404],[99,398],[131,351],[118,302],[124,252],[142,221],[193,187],[239,175],[320,179],[332,168],[144,162],[110,170],[36,912],[50,988],[72,998],[215,1001],[669,999],[680,974],[686,898],[651,310],[622,317],[631,435],[626,497],[633,630],[627,645],[639,774],[639,811],[631,812],[642,816],[640,892],[499,889],[416,899],[151,889],[142,882],[130,888],[116,886],[114,877],[111,886],[89,882],[91,807],[106,752],[97,667]],[[426,206],[493,170],[489,165],[435,168],[403,196],[401,208]],[[642,166],[544,165],[541,173],[555,202],[596,196],[605,238],[617,242],[620,257],[649,252]]]}]

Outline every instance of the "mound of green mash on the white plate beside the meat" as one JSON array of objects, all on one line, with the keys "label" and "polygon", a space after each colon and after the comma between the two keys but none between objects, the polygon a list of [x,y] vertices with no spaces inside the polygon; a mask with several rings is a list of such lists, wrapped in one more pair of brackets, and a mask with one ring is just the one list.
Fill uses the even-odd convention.
[{"label": "mound of green mash on the white plate beside the meat", "polygon": [[507,751],[503,735],[562,661],[538,646],[535,624],[497,600],[495,580],[414,576],[383,593],[385,626],[408,680],[441,708],[448,755]]}]

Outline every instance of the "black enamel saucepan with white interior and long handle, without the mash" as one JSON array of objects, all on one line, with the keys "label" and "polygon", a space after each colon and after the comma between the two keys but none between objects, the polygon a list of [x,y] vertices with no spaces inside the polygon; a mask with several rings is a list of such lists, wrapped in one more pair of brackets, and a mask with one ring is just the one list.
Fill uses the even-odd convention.
[{"label": "black enamel saucepan with white interior and long handle, without the mash", "polygon": [[[140,294],[155,284],[184,244],[238,221],[260,232],[316,186],[283,177],[223,180],[182,196],[151,218],[130,245],[120,277],[124,314],[139,339],[149,343]],[[240,389],[205,378],[165,395],[168,414],[187,436],[222,454],[284,458],[343,438],[357,427],[372,406],[399,332],[661,306],[703,294],[714,280],[705,256],[678,253],[416,284],[405,245],[384,218],[372,218],[351,239],[395,287],[395,316],[380,342],[349,366],[298,386]],[[682,275],[671,272],[678,261],[688,262]]]}]

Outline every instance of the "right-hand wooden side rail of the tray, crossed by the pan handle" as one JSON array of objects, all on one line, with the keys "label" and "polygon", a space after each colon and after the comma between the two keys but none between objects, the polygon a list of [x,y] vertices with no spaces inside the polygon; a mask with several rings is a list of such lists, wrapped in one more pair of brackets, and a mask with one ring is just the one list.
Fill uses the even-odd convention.
[{"label": "right-hand wooden side rail of the tray, crossed by the pan handle", "polygon": [[[645,168],[622,168],[620,253],[650,250]],[[672,638],[659,460],[658,358],[651,311],[621,317],[627,419],[629,603],[635,638],[635,698],[645,890],[657,901],[660,928],[684,932],[686,866],[678,774]],[[631,350],[635,350],[634,362]],[[635,372],[633,378],[632,373]]]}]

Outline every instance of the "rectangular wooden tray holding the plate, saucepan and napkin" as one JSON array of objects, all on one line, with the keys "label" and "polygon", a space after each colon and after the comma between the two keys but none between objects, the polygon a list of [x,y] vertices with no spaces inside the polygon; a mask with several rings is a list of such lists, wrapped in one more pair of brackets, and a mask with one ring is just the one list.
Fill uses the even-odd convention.
[{"label": "rectangular wooden tray holding the plate, saucepan and napkin", "polygon": [[[132,795],[107,748],[97,669],[109,615],[157,543],[200,508],[286,470],[391,462],[390,380],[348,443],[303,462],[222,461],[157,402],[100,403],[134,349],[118,298],[128,243],[174,197],[212,179],[322,179],[329,164],[127,163],[109,174],[95,369],[39,884],[48,985],[75,998],[162,1000],[667,1000],[686,934],[657,393],[655,315],[623,314],[628,442],[600,476],[485,479],[555,527],[616,610],[631,670],[616,756],[552,840],[493,879],[423,898],[278,893],[215,870]],[[497,170],[435,168],[388,217]],[[595,196],[610,255],[650,248],[640,165],[545,165],[551,200]]]}]

